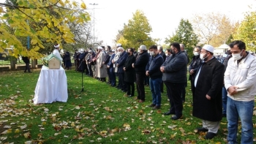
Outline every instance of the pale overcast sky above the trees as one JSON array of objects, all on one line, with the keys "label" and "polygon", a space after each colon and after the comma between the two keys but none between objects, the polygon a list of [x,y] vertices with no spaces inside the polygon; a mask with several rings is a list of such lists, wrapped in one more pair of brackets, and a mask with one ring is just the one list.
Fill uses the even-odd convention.
[{"label": "pale overcast sky above the trees", "polygon": [[[0,0],[3,2],[4,0]],[[63,0],[65,1],[65,0]],[[80,1],[80,0],[77,0]],[[249,5],[256,10],[256,0],[83,0],[86,3],[88,12],[95,18],[95,37],[103,40],[103,45],[115,45],[118,30],[123,28],[124,23],[132,18],[136,10],[144,12],[151,24],[153,32],[151,37],[162,39],[172,35],[181,18],[191,20],[195,14],[208,12],[220,12],[227,15],[230,20],[242,20],[244,13],[248,12]],[[159,44],[159,43],[158,43]]]}]

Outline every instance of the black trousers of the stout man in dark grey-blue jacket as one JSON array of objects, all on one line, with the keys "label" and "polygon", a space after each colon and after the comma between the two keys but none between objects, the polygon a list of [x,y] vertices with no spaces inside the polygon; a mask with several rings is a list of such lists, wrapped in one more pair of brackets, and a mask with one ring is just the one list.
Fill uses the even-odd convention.
[{"label": "black trousers of the stout man in dark grey-blue jacket", "polygon": [[184,83],[164,83],[167,88],[168,99],[170,100],[170,112],[174,112],[177,117],[180,117],[183,110],[181,91],[184,88]]}]

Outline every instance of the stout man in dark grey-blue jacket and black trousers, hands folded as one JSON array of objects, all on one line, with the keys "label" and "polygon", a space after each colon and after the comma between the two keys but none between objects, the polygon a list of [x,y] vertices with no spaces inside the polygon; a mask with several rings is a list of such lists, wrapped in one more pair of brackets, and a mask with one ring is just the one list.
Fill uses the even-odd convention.
[{"label": "stout man in dark grey-blue jacket and black trousers, hands folded", "polygon": [[170,99],[170,110],[164,115],[174,114],[171,119],[177,120],[182,117],[181,91],[187,82],[187,56],[181,52],[178,42],[170,45],[173,55],[160,67],[162,80],[167,88],[167,96]]}]

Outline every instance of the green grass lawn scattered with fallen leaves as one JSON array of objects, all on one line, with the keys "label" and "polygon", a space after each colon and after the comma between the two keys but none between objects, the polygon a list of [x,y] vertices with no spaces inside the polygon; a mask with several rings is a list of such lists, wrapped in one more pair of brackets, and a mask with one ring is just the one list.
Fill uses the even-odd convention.
[{"label": "green grass lawn scattered with fallen leaves", "polygon": [[196,133],[202,122],[192,116],[190,83],[183,118],[173,121],[170,115],[162,115],[170,107],[166,91],[161,109],[151,110],[148,86],[144,103],[88,76],[80,92],[81,74],[74,70],[66,71],[67,103],[34,105],[31,99],[39,72],[0,72],[0,143],[226,143],[226,118],[213,140]]}]

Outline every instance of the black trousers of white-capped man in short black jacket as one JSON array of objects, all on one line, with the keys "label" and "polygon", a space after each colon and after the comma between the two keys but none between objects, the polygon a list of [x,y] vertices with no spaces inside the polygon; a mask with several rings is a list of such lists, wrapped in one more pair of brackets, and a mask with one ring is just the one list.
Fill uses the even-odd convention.
[{"label": "black trousers of white-capped man in short black jacket", "polygon": [[145,88],[144,88],[145,72],[136,73],[136,88],[138,92],[138,99],[145,101]]}]

